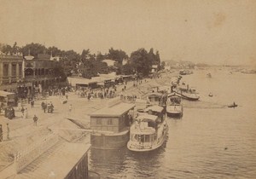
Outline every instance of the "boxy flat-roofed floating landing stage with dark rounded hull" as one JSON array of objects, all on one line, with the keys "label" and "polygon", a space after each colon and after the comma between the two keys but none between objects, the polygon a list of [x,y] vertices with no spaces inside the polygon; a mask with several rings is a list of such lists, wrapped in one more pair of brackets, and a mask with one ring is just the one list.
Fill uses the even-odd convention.
[{"label": "boxy flat-roofed floating landing stage with dark rounded hull", "polygon": [[134,104],[117,103],[90,113],[90,144],[97,149],[125,147],[129,141],[129,127]]}]

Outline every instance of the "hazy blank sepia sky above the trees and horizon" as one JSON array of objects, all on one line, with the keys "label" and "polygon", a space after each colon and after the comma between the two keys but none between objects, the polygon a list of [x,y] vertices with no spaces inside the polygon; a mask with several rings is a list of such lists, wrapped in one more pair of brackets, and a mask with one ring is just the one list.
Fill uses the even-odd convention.
[{"label": "hazy blank sepia sky above the trees and horizon", "polygon": [[139,48],[162,60],[256,61],[255,0],[0,0],[0,43],[92,53]]}]

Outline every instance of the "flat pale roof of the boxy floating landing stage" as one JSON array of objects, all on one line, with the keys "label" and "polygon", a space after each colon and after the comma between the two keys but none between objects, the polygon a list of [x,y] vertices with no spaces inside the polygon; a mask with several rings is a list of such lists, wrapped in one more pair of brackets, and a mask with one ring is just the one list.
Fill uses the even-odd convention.
[{"label": "flat pale roof of the boxy floating landing stage", "polygon": [[111,107],[104,107],[94,113],[90,113],[90,117],[119,117],[131,110],[133,107],[135,107],[134,104],[121,102]]}]

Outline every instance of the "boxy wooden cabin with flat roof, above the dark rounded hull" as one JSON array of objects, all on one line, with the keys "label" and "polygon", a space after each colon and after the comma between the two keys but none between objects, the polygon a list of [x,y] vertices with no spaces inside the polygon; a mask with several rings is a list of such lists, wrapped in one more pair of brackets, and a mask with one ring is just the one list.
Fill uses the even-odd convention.
[{"label": "boxy wooden cabin with flat roof, above the dark rounded hull", "polygon": [[90,113],[90,128],[113,133],[127,129],[132,121],[134,104],[120,102]]}]

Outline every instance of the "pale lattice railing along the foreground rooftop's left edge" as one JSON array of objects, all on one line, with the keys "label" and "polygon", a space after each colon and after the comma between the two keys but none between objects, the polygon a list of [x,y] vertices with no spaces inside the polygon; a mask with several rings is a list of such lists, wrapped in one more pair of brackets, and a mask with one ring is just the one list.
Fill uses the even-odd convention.
[{"label": "pale lattice railing along the foreground rooftop's left edge", "polygon": [[55,133],[45,136],[42,140],[33,143],[26,149],[15,154],[16,172],[24,169],[32,161],[37,159],[42,153],[46,152],[50,147],[53,147],[58,141],[58,136]]}]

